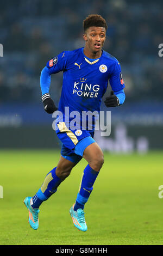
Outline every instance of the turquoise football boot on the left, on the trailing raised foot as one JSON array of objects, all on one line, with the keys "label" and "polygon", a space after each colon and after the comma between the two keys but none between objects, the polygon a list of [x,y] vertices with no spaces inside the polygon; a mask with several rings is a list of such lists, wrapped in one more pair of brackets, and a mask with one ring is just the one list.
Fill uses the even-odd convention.
[{"label": "turquoise football boot on the left, on the trailing raised foot", "polygon": [[39,209],[33,209],[32,206],[30,205],[30,200],[32,199],[32,197],[26,197],[23,201],[23,203],[26,205],[28,212],[29,212],[29,224],[30,227],[32,227],[33,229],[37,229],[39,228]]}]

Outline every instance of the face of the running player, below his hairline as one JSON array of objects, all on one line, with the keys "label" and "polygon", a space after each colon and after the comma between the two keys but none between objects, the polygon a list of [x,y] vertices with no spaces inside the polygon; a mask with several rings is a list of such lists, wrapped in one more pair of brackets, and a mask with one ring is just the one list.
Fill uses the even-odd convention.
[{"label": "face of the running player, below his hairline", "polygon": [[83,35],[85,45],[91,52],[99,52],[106,38],[106,30],[104,27],[89,27]]}]

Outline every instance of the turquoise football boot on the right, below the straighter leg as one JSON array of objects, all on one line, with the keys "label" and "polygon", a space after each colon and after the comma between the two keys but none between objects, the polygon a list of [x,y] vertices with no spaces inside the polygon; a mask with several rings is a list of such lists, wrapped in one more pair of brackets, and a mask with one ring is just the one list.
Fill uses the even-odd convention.
[{"label": "turquoise football boot on the right, below the straighter leg", "polygon": [[77,211],[74,211],[73,208],[74,208],[74,204],[70,208],[70,215],[72,217],[74,226],[79,230],[86,231],[87,226],[85,222],[84,211],[82,209],[78,209]]}]

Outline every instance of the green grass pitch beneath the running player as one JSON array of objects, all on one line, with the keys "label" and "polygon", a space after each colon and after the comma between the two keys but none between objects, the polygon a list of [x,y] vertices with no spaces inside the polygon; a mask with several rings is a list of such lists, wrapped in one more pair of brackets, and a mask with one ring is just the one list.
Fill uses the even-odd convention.
[{"label": "green grass pitch beneath the running player", "polygon": [[57,165],[59,151],[0,152],[0,245],[162,245],[162,152],[145,155],[105,153],[105,162],[85,205],[87,231],[74,228],[69,209],[75,202],[83,159],[40,206],[39,229],[28,223],[23,199],[33,196]]}]

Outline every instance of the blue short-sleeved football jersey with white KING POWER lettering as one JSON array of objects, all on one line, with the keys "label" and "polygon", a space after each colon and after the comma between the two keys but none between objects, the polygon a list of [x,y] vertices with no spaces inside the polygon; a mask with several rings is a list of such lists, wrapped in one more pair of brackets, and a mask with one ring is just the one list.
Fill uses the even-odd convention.
[{"label": "blue short-sleeved football jersey with white KING POWER lettering", "polygon": [[47,68],[51,74],[63,71],[58,107],[62,113],[65,107],[69,107],[70,112],[99,112],[108,81],[114,92],[124,88],[120,63],[105,51],[100,58],[91,61],[84,55],[83,48],[64,51],[49,60]]}]

